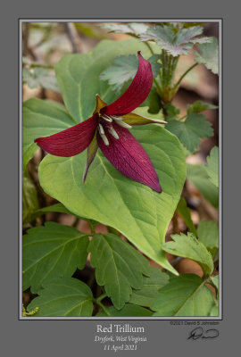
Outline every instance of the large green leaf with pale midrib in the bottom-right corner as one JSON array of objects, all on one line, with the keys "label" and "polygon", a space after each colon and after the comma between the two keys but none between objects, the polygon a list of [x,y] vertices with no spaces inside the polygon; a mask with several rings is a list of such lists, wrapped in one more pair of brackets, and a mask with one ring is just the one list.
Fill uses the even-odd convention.
[{"label": "large green leaf with pale midrib in the bottom-right corner", "polygon": [[154,316],[209,316],[212,310],[212,291],[195,274],[170,277],[152,306]]}]

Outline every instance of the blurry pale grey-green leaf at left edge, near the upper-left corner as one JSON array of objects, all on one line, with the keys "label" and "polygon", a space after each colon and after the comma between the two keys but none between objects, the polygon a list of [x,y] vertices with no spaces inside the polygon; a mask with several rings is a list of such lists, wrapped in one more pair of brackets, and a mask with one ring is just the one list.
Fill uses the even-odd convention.
[{"label": "blurry pale grey-green leaf at left edge, near the upper-left corner", "polygon": [[22,71],[22,80],[23,83],[28,84],[29,88],[43,87],[57,93],[60,92],[55,76],[50,74],[46,68],[24,68]]}]

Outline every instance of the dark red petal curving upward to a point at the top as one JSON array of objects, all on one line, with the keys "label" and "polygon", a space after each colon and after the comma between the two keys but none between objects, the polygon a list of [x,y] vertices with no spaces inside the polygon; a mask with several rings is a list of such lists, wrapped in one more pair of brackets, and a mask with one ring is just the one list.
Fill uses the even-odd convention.
[{"label": "dark red petal curving upward to a point at the top", "polygon": [[150,62],[138,52],[138,70],[129,88],[123,95],[120,95],[115,102],[104,108],[103,113],[107,115],[124,115],[134,111],[150,93],[153,85],[153,71]]}]

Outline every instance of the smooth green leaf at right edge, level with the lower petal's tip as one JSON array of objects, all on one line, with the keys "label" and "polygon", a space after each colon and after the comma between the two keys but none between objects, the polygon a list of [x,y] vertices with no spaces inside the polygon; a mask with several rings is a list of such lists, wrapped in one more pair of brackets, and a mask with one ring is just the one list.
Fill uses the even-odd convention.
[{"label": "smooth green leaf at right edge, level with the lower petal's tip", "polygon": [[206,200],[212,203],[213,207],[219,206],[219,190],[209,180],[203,164],[191,165],[187,163],[187,179],[195,185]]}]

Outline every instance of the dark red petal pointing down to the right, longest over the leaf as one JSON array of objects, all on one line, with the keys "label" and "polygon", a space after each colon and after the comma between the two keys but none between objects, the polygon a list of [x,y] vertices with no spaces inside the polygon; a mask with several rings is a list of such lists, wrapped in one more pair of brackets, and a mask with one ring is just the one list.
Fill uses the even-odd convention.
[{"label": "dark red petal pointing down to the right, longest over the leaf", "polygon": [[120,138],[115,139],[105,130],[109,145],[104,145],[103,139],[97,133],[98,145],[104,156],[127,178],[134,179],[157,192],[162,192],[153,163],[142,145],[137,142],[128,129],[117,125],[114,126],[114,129]]}]

